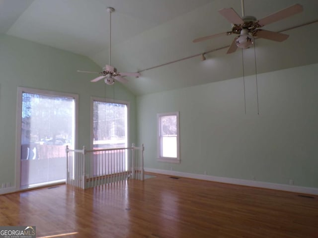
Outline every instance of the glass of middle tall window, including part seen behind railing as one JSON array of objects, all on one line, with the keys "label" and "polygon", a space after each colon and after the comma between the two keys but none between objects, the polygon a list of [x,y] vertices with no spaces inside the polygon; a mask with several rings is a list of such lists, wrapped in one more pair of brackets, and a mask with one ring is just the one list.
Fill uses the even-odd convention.
[{"label": "glass of middle tall window, including part seen behind railing", "polygon": [[[93,174],[104,176],[128,169],[128,108],[126,104],[93,101],[93,149],[117,149],[106,155],[94,152]],[[105,170],[96,165],[105,165]]]}]

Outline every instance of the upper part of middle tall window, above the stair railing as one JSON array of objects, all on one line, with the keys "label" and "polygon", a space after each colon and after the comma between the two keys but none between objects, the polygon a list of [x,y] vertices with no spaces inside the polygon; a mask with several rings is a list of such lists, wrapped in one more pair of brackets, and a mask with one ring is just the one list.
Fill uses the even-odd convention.
[{"label": "upper part of middle tall window, above the stair railing", "polygon": [[128,102],[92,98],[93,149],[128,147]]}]

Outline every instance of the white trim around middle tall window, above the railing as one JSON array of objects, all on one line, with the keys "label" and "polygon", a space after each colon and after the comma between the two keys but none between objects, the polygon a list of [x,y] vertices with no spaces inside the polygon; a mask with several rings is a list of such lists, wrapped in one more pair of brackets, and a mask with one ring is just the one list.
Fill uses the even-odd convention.
[{"label": "white trim around middle tall window, above the railing", "polygon": [[130,133],[129,133],[129,115],[130,115],[130,102],[129,101],[123,101],[123,100],[114,100],[114,99],[110,99],[110,98],[101,98],[101,97],[90,97],[90,148],[93,149],[93,137],[94,137],[94,133],[93,133],[93,111],[94,111],[94,106],[93,103],[94,101],[98,101],[98,102],[103,102],[103,103],[118,103],[118,104],[125,104],[127,105],[127,144],[128,147],[130,147]]}]

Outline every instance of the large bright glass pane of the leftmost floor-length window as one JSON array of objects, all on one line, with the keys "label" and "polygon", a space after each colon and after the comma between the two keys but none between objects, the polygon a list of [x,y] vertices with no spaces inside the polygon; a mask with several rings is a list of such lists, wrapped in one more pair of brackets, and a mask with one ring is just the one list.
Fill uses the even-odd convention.
[{"label": "large bright glass pane of the leftmost floor-length window", "polygon": [[65,180],[65,149],[74,139],[74,98],[23,92],[20,186]]}]

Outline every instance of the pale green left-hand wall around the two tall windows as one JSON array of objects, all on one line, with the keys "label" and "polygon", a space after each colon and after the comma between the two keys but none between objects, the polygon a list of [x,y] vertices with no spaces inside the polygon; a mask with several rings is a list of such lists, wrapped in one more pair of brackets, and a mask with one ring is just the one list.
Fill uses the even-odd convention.
[{"label": "pale green left-hand wall around the two tall windows", "polygon": [[90,97],[130,102],[130,143],[136,142],[136,97],[121,84],[90,83],[90,74],[100,71],[92,60],[30,41],[0,35],[0,184],[15,179],[17,87],[28,87],[79,95],[79,147],[89,148]]}]

